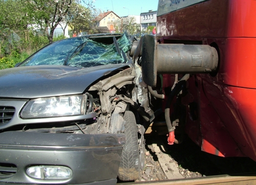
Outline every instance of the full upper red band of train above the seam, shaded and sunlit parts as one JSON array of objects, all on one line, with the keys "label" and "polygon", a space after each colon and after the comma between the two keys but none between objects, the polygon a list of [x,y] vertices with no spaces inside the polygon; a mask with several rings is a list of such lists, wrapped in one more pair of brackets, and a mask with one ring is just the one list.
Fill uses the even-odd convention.
[{"label": "full upper red band of train above the seam, shaded and sunlit parts", "polygon": [[256,37],[255,0],[209,0],[157,17],[157,36]]}]

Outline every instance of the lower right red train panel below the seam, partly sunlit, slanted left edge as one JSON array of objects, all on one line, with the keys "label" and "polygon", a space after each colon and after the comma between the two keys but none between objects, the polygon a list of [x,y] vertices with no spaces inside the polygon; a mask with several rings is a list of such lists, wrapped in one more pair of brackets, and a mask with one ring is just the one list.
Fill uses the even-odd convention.
[{"label": "lower right red train panel below the seam, partly sunlit, slanted left edge", "polygon": [[[240,150],[256,160],[256,89],[227,86],[207,78],[203,79],[203,86],[207,99]],[[211,117],[211,112],[205,113],[202,120]]]}]

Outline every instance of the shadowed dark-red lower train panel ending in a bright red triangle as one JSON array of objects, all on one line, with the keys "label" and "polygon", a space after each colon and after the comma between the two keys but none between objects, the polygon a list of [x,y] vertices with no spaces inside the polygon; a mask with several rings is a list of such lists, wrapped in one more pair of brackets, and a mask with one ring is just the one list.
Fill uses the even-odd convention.
[{"label": "shadowed dark-red lower train panel ending in a bright red triangle", "polygon": [[[194,97],[199,112],[199,118],[193,121],[188,111],[186,133],[189,137],[201,146],[202,151],[222,157],[244,156],[221,120],[218,110],[205,96],[205,85],[202,86],[204,80],[201,79],[201,75],[191,77],[188,82],[189,92]],[[214,94],[219,93],[219,89],[211,87],[210,91]]]}]

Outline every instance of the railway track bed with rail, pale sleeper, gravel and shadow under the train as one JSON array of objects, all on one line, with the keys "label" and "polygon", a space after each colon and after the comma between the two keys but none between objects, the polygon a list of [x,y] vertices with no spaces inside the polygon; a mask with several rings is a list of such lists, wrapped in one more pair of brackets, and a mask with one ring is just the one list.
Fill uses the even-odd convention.
[{"label": "railway track bed with rail, pale sleeper, gravel and shadow under the train", "polygon": [[[159,123],[147,131],[145,169],[140,179],[118,182],[118,185],[256,184],[255,161],[247,157],[222,158],[205,153],[189,138],[181,145],[166,145],[165,130],[165,125]],[[164,174],[162,178],[161,173]]]}]

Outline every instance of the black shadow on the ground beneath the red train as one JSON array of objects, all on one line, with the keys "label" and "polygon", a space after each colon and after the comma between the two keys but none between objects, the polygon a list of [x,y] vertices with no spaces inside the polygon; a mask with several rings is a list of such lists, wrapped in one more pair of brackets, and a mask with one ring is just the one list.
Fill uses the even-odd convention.
[{"label": "black shadow on the ground beneath the red train", "polygon": [[[167,145],[167,136],[160,136],[167,153],[178,163],[179,167],[190,172],[199,172],[205,176],[234,175],[256,172],[256,162],[248,157],[219,157],[201,151],[190,138],[185,135],[184,141],[177,145]],[[151,144],[151,137],[146,138]]]}]

